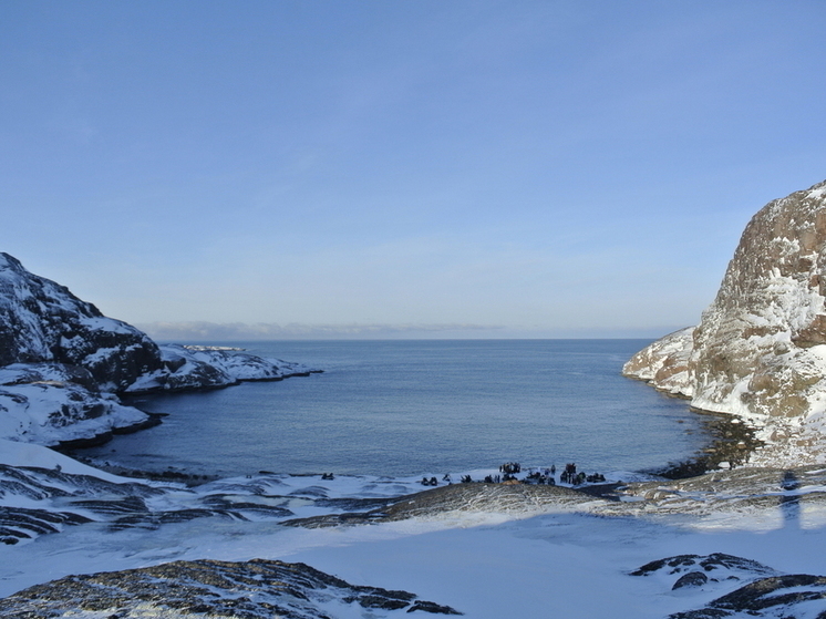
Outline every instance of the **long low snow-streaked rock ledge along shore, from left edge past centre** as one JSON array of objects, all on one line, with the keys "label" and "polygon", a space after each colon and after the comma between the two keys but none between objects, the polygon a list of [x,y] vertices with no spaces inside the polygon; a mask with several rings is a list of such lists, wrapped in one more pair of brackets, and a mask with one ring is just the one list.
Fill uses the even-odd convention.
[{"label": "long low snow-streaked rock ledge along shore, from left edge past centre", "polygon": [[[90,520],[106,523],[111,530],[157,529],[168,523],[208,517],[319,528],[443,517],[451,513],[524,515],[575,509],[598,501],[584,492],[559,486],[482,483],[446,485],[413,494],[405,494],[402,486],[397,492],[389,488],[384,497],[330,498],[328,495],[329,489],[321,486],[290,489],[270,475],[219,479],[184,488],[168,483],[113,482],[66,473],[60,467],[0,465],[0,526],[7,524],[4,518],[17,518],[20,509],[37,510],[31,514],[37,526],[18,527],[20,535],[0,532],[0,536],[30,539],[62,530],[63,524]],[[292,504],[327,514],[297,518],[290,509]],[[53,526],[55,518],[61,526]]]}]

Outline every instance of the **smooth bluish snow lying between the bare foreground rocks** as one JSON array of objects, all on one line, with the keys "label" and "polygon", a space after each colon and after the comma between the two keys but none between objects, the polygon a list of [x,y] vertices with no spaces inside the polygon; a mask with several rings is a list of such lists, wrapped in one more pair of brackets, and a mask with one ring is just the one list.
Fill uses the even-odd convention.
[{"label": "smooth bluish snow lying between the bare foreground rocks", "polygon": [[[64,472],[125,482],[47,448],[20,443],[0,442],[0,463],[60,465]],[[220,479],[190,489],[165,488],[165,494],[151,499],[156,507],[187,505],[198,495],[220,492],[234,491],[245,501],[277,493],[295,496],[290,508],[297,516],[310,516],[324,509],[308,502],[302,506],[301,496],[397,496],[419,492],[422,486],[414,477],[338,476],[321,481],[319,476],[264,475]],[[804,481],[788,494],[823,489],[823,484]],[[629,498],[637,501],[628,505],[641,504],[639,497]],[[700,608],[744,581],[722,580],[672,591],[674,576],[631,576],[639,567],[674,555],[726,553],[782,572],[819,574],[826,550],[824,526],[826,507],[818,504],[803,505],[797,516],[789,518],[779,506],[716,509],[705,515],[646,509],[632,516],[612,515],[601,509],[599,502],[533,512],[452,510],[329,528],[286,527],[271,519],[199,518],[156,530],[112,530],[92,523],[28,544],[0,547],[0,596],[69,574],[177,559],[266,558],[306,563],[357,585],[412,591],[469,618],[661,619]],[[823,610],[823,603],[817,608]],[[352,615],[341,612],[338,608],[333,616],[365,617],[355,609]]]}]

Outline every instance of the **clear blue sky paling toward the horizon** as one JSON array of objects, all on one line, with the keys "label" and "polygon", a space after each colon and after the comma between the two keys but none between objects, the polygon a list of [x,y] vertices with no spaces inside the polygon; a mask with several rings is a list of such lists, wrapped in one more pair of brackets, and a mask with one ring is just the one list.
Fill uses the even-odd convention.
[{"label": "clear blue sky paling toward the horizon", "polygon": [[819,0],[4,0],[0,250],[156,336],[659,337],[826,178],[824,25]]}]

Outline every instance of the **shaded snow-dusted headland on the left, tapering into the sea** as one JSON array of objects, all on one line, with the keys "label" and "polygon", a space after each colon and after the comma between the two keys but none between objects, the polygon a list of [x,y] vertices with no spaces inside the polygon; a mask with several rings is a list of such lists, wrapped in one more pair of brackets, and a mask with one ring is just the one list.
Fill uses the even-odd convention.
[{"label": "shaded snow-dusted headland on the left, tapering into the sea", "polygon": [[234,350],[158,347],[0,252],[0,439],[105,441],[152,422],[122,405],[120,393],[214,389],[311,371]]}]

